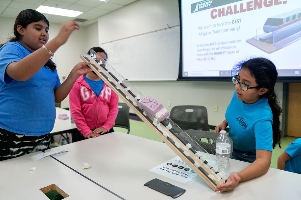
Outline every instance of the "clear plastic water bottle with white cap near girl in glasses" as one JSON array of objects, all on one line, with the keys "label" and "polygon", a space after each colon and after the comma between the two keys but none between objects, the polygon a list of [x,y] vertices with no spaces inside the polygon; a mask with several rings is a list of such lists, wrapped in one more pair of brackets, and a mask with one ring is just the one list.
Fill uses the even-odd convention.
[{"label": "clear plastic water bottle with white cap near girl in glasses", "polygon": [[216,139],[215,155],[219,171],[223,171],[225,174],[230,173],[230,153],[231,143],[230,139],[226,135],[226,131],[220,131],[219,137]]}]

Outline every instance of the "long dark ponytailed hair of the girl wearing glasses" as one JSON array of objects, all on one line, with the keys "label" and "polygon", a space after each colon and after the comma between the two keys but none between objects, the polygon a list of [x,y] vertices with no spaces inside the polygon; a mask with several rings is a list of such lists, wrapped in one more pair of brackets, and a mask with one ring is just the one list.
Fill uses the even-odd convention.
[{"label": "long dark ponytailed hair of the girl wearing glasses", "polygon": [[267,93],[264,93],[261,96],[268,99],[267,102],[269,103],[273,113],[273,148],[275,148],[277,144],[279,145],[279,148],[281,148],[280,142],[282,132],[280,129],[279,116],[282,113],[282,109],[279,106],[278,98],[274,91],[278,76],[276,66],[272,63],[272,61],[266,58],[251,58],[247,61],[236,64],[232,73],[238,73],[241,69],[250,70],[258,86],[269,89]]}]

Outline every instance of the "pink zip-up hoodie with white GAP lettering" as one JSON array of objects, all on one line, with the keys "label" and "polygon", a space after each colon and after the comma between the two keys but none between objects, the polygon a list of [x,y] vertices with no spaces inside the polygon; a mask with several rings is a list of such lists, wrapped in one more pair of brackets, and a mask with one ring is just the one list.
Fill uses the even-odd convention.
[{"label": "pink zip-up hoodie with white GAP lettering", "polygon": [[103,127],[110,130],[118,114],[118,96],[103,83],[103,89],[95,95],[84,76],[80,76],[69,93],[70,112],[79,132],[86,138],[90,129]]}]

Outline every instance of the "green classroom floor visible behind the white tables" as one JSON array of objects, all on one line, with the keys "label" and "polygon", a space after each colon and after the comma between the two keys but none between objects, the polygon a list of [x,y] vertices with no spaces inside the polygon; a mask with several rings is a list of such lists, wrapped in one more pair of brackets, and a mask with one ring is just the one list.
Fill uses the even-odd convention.
[{"label": "green classroom floor visible behind the white tables", "polygon": [[[157,135],[154,133],[144,122],[136,121],[136,120],[129,120],[130,122],[130,132],[131,135],[136,135],[142,138],[148,138],[151,140],[156,140],[159,142],[163,142]],[[120,131],[126,133],[127,130],[124,128],[114,127],[115,131]],[[285,148],[288,147],[290,143],[292,143],[295,137],[285,137],[282,140],[281,147],[278,146],[272,152],[272,163],[271,168],[277,168],[277,159],[279,155],[284,151]]]}]

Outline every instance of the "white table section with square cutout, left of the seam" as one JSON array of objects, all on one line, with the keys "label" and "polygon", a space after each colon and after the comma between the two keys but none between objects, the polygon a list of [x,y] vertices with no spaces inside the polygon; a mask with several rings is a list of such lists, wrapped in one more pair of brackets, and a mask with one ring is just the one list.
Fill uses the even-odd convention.
[{"label": "white table section with square cutout, left of the seam", "polygon": [[[33,161],[30,153],[0,162],[1,200],[49,200],[40,188],[55,184],[66,192],[66,199],[120,199],[51,157]],[[29,171],[36,167],[35,171]]]}]

